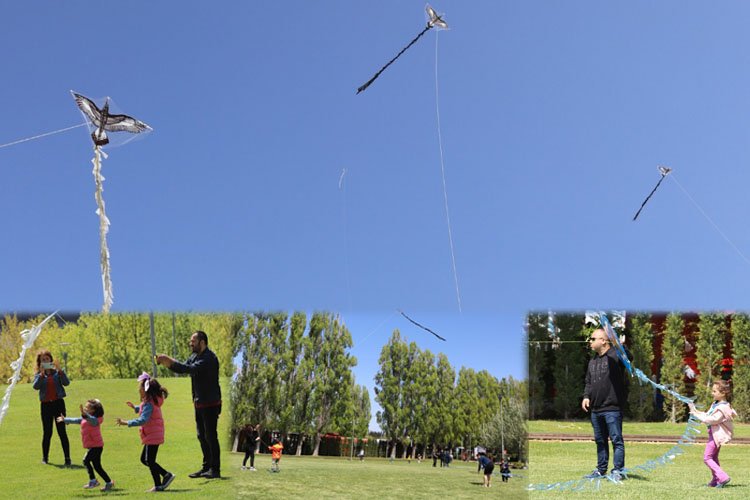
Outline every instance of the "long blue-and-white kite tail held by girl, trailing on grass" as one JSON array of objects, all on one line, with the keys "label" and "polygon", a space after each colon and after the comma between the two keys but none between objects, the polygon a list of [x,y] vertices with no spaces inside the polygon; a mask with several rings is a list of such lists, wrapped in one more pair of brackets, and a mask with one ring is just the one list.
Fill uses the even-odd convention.
[{"label": "long blue-and-white kite tail held by girl, trailing on grass", "polygon": [[[658,384],[654,382],[640,369],[633,367],[632,364],[630,363],[630,360],[628,359],[627,353],[625,352],[625,348],[623,347],[622,343],[620,343],[620,339],[617,337],[617,334],[614,331],[614,328],[612,328],[612,325],[609,322],[607,315],[604,312],[591,312],[591,311],[586,312],[587,321],[589,321],[590,318],[595,318],[595,317],[598,317],[600,326],[607,333],[607,337],[612,343],[612,346],[615,349],[617,356],[623,362],[623,364],[625,365],[625,367],[627,368],[631,376],[635,376],[640,383],[644,383],[644,382],[648,383],[652,385],[655,389],[671,394],[678,401],[681,401],[683,403],[692,403],[695,400],[695,398],[688,398],[688,397],[681,395],[680,393],[678,393],[677,391],[675,391],[674,389],[672,389],[671,387],[667,385]],[[695,435],[701,433],[700,426],[701,426],[701,422],[691,415],[690,418],[688,418],[687,424],[685,426],[685,431],[682,433],[682,436],[680,437],[679,441],[677,442],[675,446],[670,448],[669,451],[664,453],[659,458],[656,458],[654,460],[648,460],[644,462],[643,464],[637,465],[635,467],[629,467],[629,468],[623,469],[622,475],[624,477],[627,477],[628,474],[631,474],[636,471],[651,472],[658,467],[663,467],[665,465],[671,464],[678,455],[682,455],[683,453],[685,453],[685,450],[683,449],[685,445],[692,444],[695,441]],[[544,484],[544,483],[530,484],[528,485],[527,489],[529,491],[550,491],[550,490],[583,491],[586,489],[598,490],[601,486],[602,481],[611,481],[616,484],[621,483],[620,478],[615,477],[612,474],[608,474],[606,476],[597,477],[593,479],[583,478],[583,479],[573,479],[570,481],[550,483],[550,484]]]}]

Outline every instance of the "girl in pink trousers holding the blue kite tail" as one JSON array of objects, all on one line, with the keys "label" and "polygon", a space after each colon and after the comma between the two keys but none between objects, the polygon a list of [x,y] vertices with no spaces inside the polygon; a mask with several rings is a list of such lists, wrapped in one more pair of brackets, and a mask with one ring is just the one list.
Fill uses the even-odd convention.
[{"label": "girl in pink trousers holding the blue kite tail", "polygon": [[689,403],[688,406],[695,418],[708,425],[708,442],[703,453],[703,463],[711,469],[711,482],[708,486],[721,488],[729,483],[731,478],[719,466],[719,451],[721,445],[732,439],[732,419],[737,416],[737,412],[729,404],[732,399],[732,386],[726,380],[714,382],[711,395],[714,402],[707,412],[697,411],[693,403]]}]

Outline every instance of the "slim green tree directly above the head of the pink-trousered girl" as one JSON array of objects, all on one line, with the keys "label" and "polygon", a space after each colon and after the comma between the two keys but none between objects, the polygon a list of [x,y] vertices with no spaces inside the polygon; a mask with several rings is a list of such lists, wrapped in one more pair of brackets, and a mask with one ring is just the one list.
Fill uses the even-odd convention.
[{"label": "slim green tree directly above the head of the pink-trousered girl", "polygon": [[695,395],[699,401],[711,401],[711,386],[721,379],[721,359],[726,345],[726,317],[722,313],[703,313],[698,322],[695,349],[698,377]]}]

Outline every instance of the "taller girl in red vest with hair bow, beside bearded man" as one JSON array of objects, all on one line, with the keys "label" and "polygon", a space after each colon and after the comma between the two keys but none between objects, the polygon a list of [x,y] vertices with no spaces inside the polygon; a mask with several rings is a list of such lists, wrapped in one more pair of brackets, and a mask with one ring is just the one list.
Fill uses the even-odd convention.
[{"label": "taller girl in red vest with hair bow, beside bearded man", "polygon": [[138,390],[141,395],[141,404],[135,406],[130,401],[125,403],[138,414],[138,418],[133,420],[118,418],[117,425],[140,427],[138,430],[141,443],[143,443],[141,463],[149,468],[151,477],[154,479],[154,487],[147,493],[164,491],[174,481],[174,474],[167,472],[156,462],[156,454],[159,452],[159,445],[164,443],[164,419],[161,415],[161,405],[169,393],[146,372],[138,377],[138,381],[140,382]]}]

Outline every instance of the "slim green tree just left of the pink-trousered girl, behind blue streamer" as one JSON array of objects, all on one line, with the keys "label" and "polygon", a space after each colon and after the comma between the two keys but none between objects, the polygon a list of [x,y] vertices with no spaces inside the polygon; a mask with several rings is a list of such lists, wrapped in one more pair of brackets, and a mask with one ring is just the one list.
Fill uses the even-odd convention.
[{"label": "slim green tree just left of the pink-trousered girl, behind blue streamer", "polygon": [[[667,315],[662,333],[660,381],[680,394],[685,394],[685,374],[683,373],[683,356],[685,355],[685,321],[679,314]],[[664,394],[666,419],[675,423],[686,417],[685,405],[668,394]]]}]

